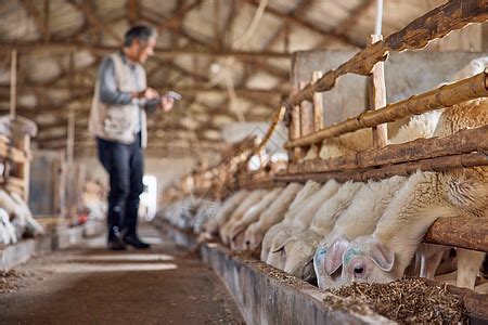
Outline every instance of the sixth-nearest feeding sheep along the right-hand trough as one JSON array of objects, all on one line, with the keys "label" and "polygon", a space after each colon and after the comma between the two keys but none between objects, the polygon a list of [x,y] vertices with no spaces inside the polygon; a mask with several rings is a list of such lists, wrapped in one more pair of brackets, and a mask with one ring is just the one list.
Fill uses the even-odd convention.
[{"label": "sixth-nearest feeding sheep along the right-hand trough", "polygon": [[288,210],[292,200],[303,188],[301,184],[291,183],[281,192],[277,199],[262,212],[259,220],[252,223],[245,234],[245,248],[254,250],[261,244],[266,232],[273,225],[283,220],[285,212]]}]

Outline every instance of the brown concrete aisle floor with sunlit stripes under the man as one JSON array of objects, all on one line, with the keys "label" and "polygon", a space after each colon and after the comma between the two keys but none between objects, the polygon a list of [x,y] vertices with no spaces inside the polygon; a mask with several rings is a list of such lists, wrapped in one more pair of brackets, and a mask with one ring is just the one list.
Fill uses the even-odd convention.
[{"label": "brown concrete aisle floor with sunlit stripes under the man", "polygon": [[16,269],[13,292],[0,294],[0,323],[242,324],[220,278],[149,226],[147,251],[112,252],[104,237]]}]

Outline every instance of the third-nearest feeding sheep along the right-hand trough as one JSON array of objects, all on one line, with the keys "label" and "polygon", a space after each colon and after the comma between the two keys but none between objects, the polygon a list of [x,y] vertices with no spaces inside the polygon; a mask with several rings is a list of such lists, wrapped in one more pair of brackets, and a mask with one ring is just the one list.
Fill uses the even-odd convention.
[{"label": "third-nearest feeding sheep along the right-hand trough", "polygon": [[350,205],[352,197],[363,185],[361,182],[350,181],[341,185],[337,193],[317,210],[310,227],[285,242],[285,272],[304,280],[312,276],[313,268],[310,265],[317,246],[321,238],[332,231],[337,217]]}]

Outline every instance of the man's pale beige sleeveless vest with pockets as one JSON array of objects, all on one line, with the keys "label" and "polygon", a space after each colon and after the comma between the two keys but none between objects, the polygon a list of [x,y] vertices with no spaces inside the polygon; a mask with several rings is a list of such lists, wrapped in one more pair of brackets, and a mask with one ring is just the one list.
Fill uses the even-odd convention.
[{"label": "man's pale beige sleeveless vest with pockets", "polygon": [[[139,80],[133,82],[133,73],[130,66],[124,64],[121,53],[113,53],[110,57],[114,62],[115,82],[119,91],[139,92],[146,88],[145,70],[140,64],[134,64]],[[138,84],[140,89],[134,89]],[[93,101],[91,103],[88,129],[91,134],[107,141],[131,144],[134,142],[137,123],[141,114],[141,143],[147,143],[147,129],[145,110],[139,105],[107,105],[100,101],[99,80],[95,82]]]}]

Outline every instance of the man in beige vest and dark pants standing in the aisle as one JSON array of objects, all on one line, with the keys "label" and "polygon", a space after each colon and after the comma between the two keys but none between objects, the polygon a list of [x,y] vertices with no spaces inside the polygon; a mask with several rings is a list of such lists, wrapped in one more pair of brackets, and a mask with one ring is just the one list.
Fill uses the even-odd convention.
[{"label": "man in beige vest and dark pants standing in the aisle", "polygon": [[110,176],[110,249],[126,245],[149,248],[137,235],[139,195],[143,191],[143,148],[146,145],[146,110],[172,108],[172,99],[159,98],[146,87],[143,64],[154,54],[156,31],[147,26],[130,28],[124,48],[100,65],[91,105],[89,129],[97,138],[99,159]]}]

